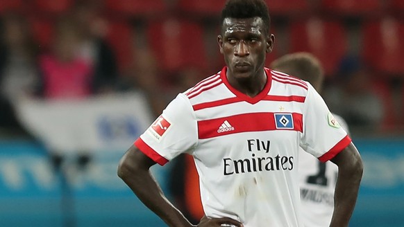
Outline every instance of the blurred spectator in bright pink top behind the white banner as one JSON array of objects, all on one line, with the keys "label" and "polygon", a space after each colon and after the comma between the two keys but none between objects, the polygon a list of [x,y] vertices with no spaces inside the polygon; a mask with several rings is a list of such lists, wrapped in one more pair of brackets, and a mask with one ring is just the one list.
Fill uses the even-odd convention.
[{"label": "blurred spectator in bright pink top behind the white banner", "polygon": [[92,67],[77,55],[80,31],[70,17],[56,24],[51,53],[40,57],[44,98],[85,98],[91,93]]}]

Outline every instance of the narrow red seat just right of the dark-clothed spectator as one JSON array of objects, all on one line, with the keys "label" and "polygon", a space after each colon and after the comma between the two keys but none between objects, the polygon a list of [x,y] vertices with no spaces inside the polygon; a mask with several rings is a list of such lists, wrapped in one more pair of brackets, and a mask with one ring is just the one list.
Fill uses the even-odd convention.
[{"label": "narrow red seat just right of the dark-clothed spectator", "polygon": [[110,21],[106,39],[117,57],[119,69],[124,71],[134,57],[134,31],[126,21]]}]

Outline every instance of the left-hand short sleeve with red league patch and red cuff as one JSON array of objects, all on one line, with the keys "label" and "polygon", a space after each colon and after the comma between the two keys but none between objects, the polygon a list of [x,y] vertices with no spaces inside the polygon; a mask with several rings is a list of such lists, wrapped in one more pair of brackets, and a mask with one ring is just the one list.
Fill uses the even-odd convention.
[{"label": "left-hand short sleeve with red league patch and red cuff", "polygon": [[135,146],[160,165],[181,153],[192,152],[197,127],[189,100],[181,93],[135,141]]}]

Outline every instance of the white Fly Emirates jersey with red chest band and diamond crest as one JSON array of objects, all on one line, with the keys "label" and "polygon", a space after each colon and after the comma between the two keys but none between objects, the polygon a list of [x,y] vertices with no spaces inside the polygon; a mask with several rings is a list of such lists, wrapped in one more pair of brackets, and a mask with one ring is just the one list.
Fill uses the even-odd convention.
[{"label": "white Fly Emirates jersey with red chest band and diamond crest", "polygon": [[303,226],[299,146],[327,161],[351,139],[330,125],[307,82],[265,69],[267,84],[251,98],[230,86],[226,70],[180,93],[135,145],[160,165],[191,154],[208,217],[245,227]]}]

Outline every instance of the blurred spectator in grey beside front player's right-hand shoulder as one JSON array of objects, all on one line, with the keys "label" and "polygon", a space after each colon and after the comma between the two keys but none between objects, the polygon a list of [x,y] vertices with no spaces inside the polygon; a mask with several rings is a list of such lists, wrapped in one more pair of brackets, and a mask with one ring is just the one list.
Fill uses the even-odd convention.
[{"label": "blurred spectator in grey beside front player's right-hand shoulder", "polygon": [[371,77],[361,60],[344,57],[339,64],[336,86],[325,89],[330,110],[354,129],[378,129],[384,116],[382,100],[371,89]]}]

